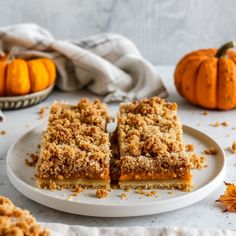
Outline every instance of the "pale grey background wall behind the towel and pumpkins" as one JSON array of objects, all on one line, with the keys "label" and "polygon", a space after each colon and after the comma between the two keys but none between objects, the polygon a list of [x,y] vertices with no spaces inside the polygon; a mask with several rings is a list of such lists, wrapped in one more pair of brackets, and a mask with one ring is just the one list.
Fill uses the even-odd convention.
[{"label": "pale grey background wall behind the towel and pumpkins", "polygon": [[0,26],[35,22],[61,39],[123,34],[154,64],[236,35],[235,0],[0,0]]}]

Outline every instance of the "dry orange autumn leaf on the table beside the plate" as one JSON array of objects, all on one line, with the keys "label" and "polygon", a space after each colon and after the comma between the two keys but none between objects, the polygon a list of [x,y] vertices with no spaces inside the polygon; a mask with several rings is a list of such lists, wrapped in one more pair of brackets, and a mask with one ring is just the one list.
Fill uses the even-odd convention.
[{"label": "dry orange autumn leaf on the table beside the plate", "polygon": [[221,202],[225,205],[225,211],[236,212],[236,185],[226,183],[226,190],[216,202]]}]

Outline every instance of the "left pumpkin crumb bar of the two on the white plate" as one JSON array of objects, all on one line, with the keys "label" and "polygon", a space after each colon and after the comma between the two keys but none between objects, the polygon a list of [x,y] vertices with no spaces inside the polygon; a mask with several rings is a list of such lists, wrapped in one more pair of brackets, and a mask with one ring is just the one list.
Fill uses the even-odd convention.
[{"label": "left pumpkin crumb bar of the two on the white plate", "polygon": [[36,184],[41,188],[110,188],[107,106],[87,98],[55,102],[43,134]]}]

